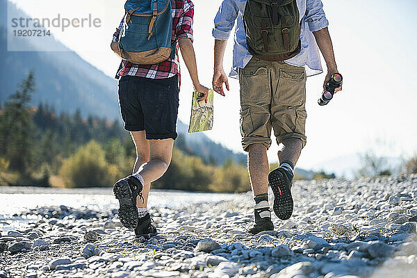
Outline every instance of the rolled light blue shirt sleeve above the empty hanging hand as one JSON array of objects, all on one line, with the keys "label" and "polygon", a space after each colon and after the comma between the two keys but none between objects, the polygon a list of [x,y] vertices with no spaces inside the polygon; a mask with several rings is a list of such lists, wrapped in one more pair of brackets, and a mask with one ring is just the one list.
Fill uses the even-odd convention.
[{"label": "rolled light blue shirt sleeve above the empty hanging hand", "polygon": [[239,9],[236,1],[224,0],[217,15],[214,18],[213,37],[216,40],[229,39],[231,29],[233,29]]}]

